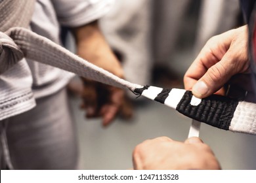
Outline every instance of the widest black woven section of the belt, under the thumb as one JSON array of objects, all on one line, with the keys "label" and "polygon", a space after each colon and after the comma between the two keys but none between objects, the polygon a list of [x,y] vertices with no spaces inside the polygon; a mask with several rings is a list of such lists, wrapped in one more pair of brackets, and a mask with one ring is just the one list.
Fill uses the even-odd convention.
[{"label": "widest black woven section of the belt, under the thumb", "polygon": [[205,124],[221,129],[229,129],[238,101],[221,95],[211,95],[202,99],[199,105],[193,106],[190,105],[191,99],[192,92],[186,91],[176,110]]}]

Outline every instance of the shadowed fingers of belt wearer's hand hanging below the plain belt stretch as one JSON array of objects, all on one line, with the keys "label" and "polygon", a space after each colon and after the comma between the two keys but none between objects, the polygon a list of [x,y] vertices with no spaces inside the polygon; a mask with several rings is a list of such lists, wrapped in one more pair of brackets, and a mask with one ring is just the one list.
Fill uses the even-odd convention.
[{"label": "shadowed fingers of belt wearer's hand hanging below the plain belt stretch", "polygon": [[84,87],[81,93],[83,99],[81,108],[87,111],[87,118],[102,116],[102,125],[106,126],[114,120],[117,114],[121,114],[121,117],[126,119],[133,116],[123,90],[86,78],[81,79]]}]

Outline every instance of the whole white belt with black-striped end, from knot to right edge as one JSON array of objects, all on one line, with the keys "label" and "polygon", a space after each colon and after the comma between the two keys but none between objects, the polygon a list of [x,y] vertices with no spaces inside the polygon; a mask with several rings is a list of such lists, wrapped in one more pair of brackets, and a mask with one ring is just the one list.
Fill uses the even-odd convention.
[{"label": "whole white belt with black-striped end, from knot to right edge", "polygon": [[28,29],[13,27],[5,33],[0,32],[0,54],[0,73],[12,67],[21,58],[30,58],[104,84],[128,88],[135,94],[144,95],[175,108],[181,114],[205,124],[230,131],[256,134],[254,103],[217,95],[195,102],[192,93],[185,90],[140,86],[112,75]]}]

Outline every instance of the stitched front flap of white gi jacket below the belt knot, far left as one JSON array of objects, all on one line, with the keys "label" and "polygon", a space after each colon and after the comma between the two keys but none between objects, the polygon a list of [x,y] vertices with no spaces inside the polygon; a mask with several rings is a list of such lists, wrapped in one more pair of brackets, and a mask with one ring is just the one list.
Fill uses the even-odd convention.
[{"label": "stitched front flap of white gi jacket below the belt knot, far left", "polygon": [[25,59],[0,75],[0,88],[0,121],[35,107],[32,77]]}]

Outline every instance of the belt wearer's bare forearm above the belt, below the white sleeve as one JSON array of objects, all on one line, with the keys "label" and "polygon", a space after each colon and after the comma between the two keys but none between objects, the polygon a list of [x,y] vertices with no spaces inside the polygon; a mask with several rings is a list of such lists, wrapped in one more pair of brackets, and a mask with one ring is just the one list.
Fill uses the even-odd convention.
[{"label": "belt wearer's bare forearm above the belt, below the white sleeve", "polygon": [[98,22],[75,27],[72,32],[77,44],[77,54],[81,58],[123,78],[123,69],[100,31]]}]

